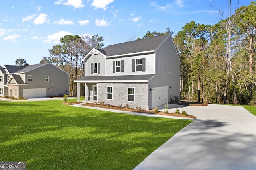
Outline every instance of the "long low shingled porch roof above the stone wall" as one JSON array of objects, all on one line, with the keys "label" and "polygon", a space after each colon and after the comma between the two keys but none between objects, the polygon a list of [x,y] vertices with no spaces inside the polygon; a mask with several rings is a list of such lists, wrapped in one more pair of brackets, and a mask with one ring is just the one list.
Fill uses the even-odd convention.
[{"label": "long low shingled porch roof above the stone wall", "polygon": [[75,82],[148,82],[154,76],[154,74],[126,76],[86,76],[75,80]]}]

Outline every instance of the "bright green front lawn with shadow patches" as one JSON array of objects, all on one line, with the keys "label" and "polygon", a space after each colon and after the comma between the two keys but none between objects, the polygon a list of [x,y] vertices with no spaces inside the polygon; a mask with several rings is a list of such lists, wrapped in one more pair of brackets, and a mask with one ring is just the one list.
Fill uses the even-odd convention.
[{"label": "bright green front lawn with shadow patches", "polygon": [[36,170],[130,170],[191,122],[62,102],[1,101],[0,160],[25,161]]}]

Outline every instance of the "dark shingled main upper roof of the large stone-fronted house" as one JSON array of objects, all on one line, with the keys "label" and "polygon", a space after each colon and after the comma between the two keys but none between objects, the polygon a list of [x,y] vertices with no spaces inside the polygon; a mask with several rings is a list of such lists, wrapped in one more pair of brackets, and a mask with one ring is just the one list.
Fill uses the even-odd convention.
[{"label": "dark shingled main upper roof of the large stone-fronted house", "polygon": [[157,37],[151,37],[151,38],[139,39],[139,40],[129,41],[129,42],[120,43],[120,44],[109,45],[108,47],[105,47],[102,50],[106,51],[106,56],[138,53],[142,51],[151,51],[151,50],[155,50],[169,36],[171,35],[164,34]]}]

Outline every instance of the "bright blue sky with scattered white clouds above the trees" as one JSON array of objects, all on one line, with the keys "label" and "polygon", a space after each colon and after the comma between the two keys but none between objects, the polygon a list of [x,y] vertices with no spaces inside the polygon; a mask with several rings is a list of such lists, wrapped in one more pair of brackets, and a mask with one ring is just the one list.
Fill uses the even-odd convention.
[{"label": "bright blue sky with scattered white clouds above the trees", "polygon": [[[233,0],[232,9],[251,0]],[[212,7],[214,6],[214,7]],[[38,64],[64,35],[103,36],[104,47],[146,32],[178,33],[186,23],[214,25],[228,0],[6,0],[0,6],[0,66]]]}]

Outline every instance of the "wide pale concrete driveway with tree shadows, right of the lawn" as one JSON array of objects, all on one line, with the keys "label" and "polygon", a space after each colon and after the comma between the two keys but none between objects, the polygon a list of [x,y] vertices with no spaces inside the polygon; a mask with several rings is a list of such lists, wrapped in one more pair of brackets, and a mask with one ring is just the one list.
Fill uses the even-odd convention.
[{"label": "wide pale concrete driveway with tree shadows, right of the lawn", "polygon": [[197,119],[134,170],[256,170],[256,116],[242,106],[178,109]]}]

